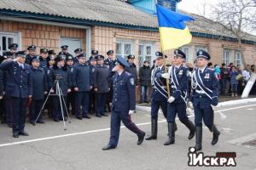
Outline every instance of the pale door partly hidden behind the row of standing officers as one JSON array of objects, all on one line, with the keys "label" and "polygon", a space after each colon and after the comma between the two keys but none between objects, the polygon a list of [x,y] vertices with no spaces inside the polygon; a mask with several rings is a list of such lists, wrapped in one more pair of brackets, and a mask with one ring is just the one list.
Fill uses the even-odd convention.
[{"label": "pale door partly hidden behind the row of standing officers", "polygon": [[74,55],[73,51],[76,48],[82,48],[82,40],[79,38],[61,37],[61,46],[62,45],[67,45],[68,53]]}]

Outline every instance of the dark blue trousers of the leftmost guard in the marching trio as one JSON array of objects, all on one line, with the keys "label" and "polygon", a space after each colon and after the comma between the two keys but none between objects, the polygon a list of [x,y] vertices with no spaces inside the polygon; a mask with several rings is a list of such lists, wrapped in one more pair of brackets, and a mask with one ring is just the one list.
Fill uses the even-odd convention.
[{"label": "dark blue trousers of the leftmost guard in the marching trio", "polygon": [[167,99],[166,101],[156,101],[151,99],[151,118],[158,118],[158,111],[161,108],[165,117],[167,117]]}]

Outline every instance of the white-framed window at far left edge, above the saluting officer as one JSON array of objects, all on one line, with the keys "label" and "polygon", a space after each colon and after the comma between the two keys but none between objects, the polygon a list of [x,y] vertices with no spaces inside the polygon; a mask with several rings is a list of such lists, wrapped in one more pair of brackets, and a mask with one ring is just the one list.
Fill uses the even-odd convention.
[{"label": "white-framed window at far left edge, above the saluting officer", "polygon": [[[10,44],[18,43],[18,42],[19,42],[18,33],[0,32],[0,55],[3,55],[4,52],[9,51],[8,47]],[[19,48],[20,48],[20,44],[19,44]]]}]

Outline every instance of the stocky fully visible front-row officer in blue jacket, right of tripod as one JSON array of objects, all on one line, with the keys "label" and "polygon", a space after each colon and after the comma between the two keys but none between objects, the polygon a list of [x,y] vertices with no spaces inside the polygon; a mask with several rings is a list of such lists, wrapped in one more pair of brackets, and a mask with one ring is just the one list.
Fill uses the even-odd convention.
[{"label": "stocky fully visible front-row officer in blue jacket, right of tripod", "polygon": [[[79,63],[73,67],[73,86],[76,92],[76,117],[81,120],[82,117],[90,119],[88,116],[89,92],[92,89],[92,74],[90,66],[86,65],[85,54],[78,56]],[[80,107],[82,106],[82,111]]]}]

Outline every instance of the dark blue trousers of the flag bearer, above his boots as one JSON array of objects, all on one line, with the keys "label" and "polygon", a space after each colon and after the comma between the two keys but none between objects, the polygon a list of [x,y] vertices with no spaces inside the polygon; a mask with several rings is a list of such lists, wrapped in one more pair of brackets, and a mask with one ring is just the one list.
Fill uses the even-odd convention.
[{"label": "dark blue trousers of the flag bearer, above his boots", "polygon": [[189,122],[189,118],[186,113],[187,105],[182,103],[168,103],[167,107],[167,122],[175,122],[176,115],[180,122],[186,123]]}]

